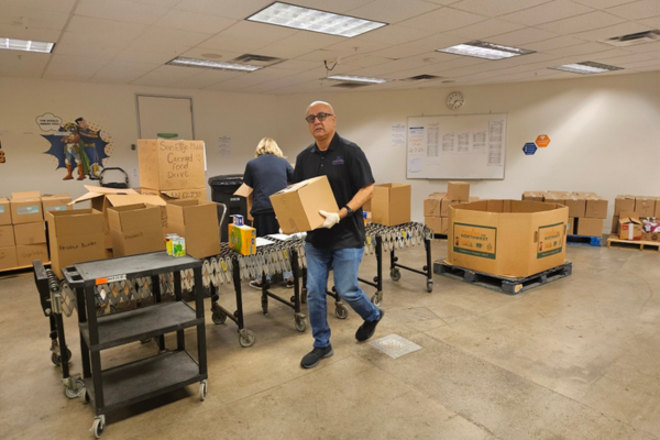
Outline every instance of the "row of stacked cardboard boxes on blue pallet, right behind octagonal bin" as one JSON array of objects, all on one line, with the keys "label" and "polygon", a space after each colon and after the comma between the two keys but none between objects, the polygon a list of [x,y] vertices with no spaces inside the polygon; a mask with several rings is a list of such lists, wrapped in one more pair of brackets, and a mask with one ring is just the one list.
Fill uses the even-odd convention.
[{"label": "row of stacked cardboard boxes on blue pallet, right behind octagonal bin", "polygon": [[607,200],[595,193],[525,191],[522,200],[560,204],[568,207],[571,235],[603,235]]}]

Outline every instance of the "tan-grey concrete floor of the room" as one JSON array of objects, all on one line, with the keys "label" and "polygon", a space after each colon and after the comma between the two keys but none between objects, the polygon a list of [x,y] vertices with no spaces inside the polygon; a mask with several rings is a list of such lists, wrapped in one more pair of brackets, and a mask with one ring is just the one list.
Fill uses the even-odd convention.
[{"label": "tan-grey concrete floor of the room", "polygon": [[[435,241],[435,257],[446,246]],[[422,248],[398,255],[424,265]],[[252,348],[207,314],[206,402],[190,386],[167,405],[117,415],[103,438],[660,439],[660,255],[570,246],[568,258],[572,276],[517,296],[439,275],[428,294],[421,275],[386,276],[374,339],[398,334],[421,350],[392,359],[358,343],[351,311],[329,317],[334,356],[312,370],[299,367],[309,329],[297,332],[293,311],[276,302],[263,316],[246,287]],[[365,256],[362,276],[374,267]],[[228,287],[221,298],[232,304]],[[32,274],[0,279],[0,439],[94,438],[92,409],[64,396],[51,363]],[[66,318],[70,367],[80,372],[76,326]],[[154,343],[135,343],[105,352],[103,363],[153,353]]]}]

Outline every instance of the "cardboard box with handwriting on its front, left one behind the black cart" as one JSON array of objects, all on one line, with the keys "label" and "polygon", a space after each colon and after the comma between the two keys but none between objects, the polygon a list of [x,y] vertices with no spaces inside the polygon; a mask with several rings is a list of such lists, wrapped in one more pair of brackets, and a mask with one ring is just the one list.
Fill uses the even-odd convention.
[{"label": "cardboard box with handwriting on its front, left one behind the black cart", "polygon": [[63,278],[63,267],[107,257],[102,212],[95,209],[50,211],[46,221],[51,268],[59,278]]}]

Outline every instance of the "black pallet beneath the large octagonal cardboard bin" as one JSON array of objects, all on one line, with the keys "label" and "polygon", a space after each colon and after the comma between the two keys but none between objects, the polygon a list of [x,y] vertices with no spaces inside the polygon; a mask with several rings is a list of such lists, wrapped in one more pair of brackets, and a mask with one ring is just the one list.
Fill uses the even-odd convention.
[{"label": "black pallet beneath the large octagonal cardboard bin", "polygon": [[529,290],[532,287],[564,278],[573,273],[573,263],[566,262],[560,266],[540,272],[521,278],[509,278],[483,272],[476,272],[464,267],[452,266],[446,262],[436,262],[433,273],[449,278],[462,279],[465,283],[486,287],[492,290],[502,292],[507,295],[516,295]]}]

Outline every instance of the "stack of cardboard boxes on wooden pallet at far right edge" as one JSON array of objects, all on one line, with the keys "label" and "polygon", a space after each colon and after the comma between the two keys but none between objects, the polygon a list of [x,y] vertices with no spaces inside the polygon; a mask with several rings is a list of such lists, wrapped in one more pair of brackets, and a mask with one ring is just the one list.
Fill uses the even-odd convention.
[{"label": "stack of cardboard boxes on wooden pallet at far right edge", "polygon": [[616,196],[614,199],[612,233],[618,234],[623,240],[660,241],[659,233],[642,231],[644,220],[648,219],[656,222],[659,218],[660,200],[657,197]]}]

